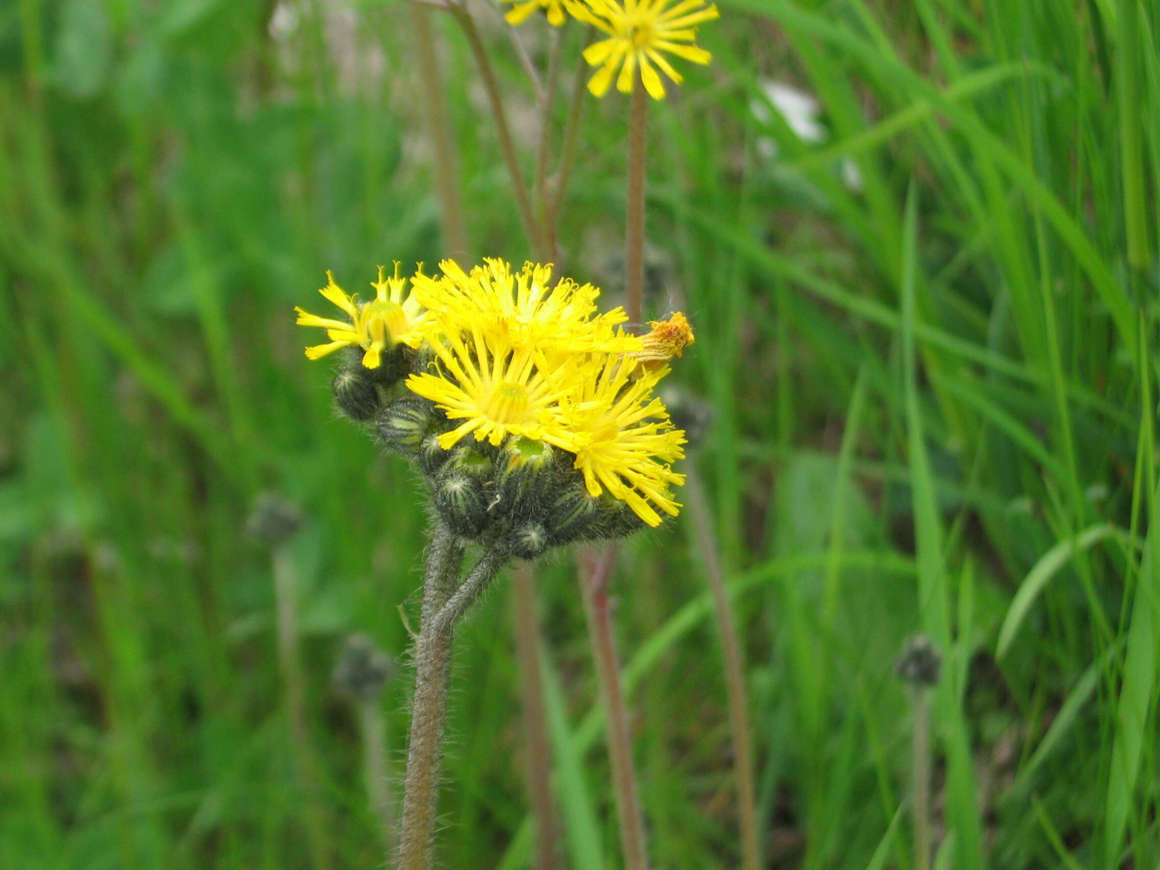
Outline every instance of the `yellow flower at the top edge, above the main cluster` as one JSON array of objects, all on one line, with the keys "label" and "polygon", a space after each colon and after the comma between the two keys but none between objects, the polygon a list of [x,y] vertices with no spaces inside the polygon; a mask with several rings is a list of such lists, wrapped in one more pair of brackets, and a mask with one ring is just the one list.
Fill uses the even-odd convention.
[{"label": "yellow flower at the top edge, above the main cluster", "polygon": [[694,64],[708,64],[711,56],[695,45],[696,24],[720,17],[717,5],[705,6],[704,0],[565,0],[568,12],[608,34],[607,39],[585,49],[583,57],[600,70],[588,82],[596,96],[608,93],[616,77],[616,89],[631,93],[636,86],[637,70],[645,90],[654,100],[665,96],[665,85],[654,65],[677,85],[681,74],[661,52],[676,55]]}]

